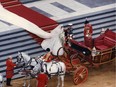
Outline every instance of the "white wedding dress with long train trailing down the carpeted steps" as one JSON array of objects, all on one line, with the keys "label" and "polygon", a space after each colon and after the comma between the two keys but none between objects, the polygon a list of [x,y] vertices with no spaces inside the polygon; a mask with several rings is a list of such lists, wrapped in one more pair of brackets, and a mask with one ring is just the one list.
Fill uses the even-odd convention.
[{"label": "white wedding dress with long train trailing down the carpeted steps", "polygon": [[[45,32],[41,28],[39,28],[34,23],[30,22],[29,20],[18,16],[15,13],[12,13],[8,11],[7,9],[3,8],[3,6],[0,3],[0,19],[6,22],[9,22],[11,24],[14,24],[16,26],[19,26],[38,37],[44,38],[41,46],[43,49],[50,48],[51,52],[54,55],[57,55],[57,51],[60,47],[62,47],[62,43],[60,40],[60,35],[63,33],[63,30],[61,29],[61,26],[57,26],[55,29],[51,31],[51,33]],[[38,19],[39,20],[39,19]],[[59,55],[63,54],[63,49],[60,50]]]}]

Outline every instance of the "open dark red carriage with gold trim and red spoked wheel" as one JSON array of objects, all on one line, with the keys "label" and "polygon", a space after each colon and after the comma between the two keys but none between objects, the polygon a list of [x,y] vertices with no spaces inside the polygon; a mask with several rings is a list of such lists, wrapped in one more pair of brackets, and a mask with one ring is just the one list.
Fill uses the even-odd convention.
[{"label": "open dark red carriage with gold trim and red spoked wheel", "polygon": [[58,58],[65,63],[67,72],[73,72],[74,84],[86,81],[87,67],[99,67],[115,59],[115,35],[114,32],[106,30],[104,34],[95,38],[93,46],[96,49],[90,49],[83,42],[73,39],[69,40],[68,45],[60,48],[65,50],[65,54]]}]

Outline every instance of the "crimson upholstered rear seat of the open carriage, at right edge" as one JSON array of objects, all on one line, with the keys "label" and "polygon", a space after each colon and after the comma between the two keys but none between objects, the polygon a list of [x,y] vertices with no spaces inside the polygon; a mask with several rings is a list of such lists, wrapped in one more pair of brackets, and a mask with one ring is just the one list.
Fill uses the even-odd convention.
[{"label": "crimson upholstered rear seat of the open carriage, at right edge", "polygon": [[94,46],[98,50],[112,48],[115,46],[116,43],[115,36],[116,36],[115,32],[112,32],[111,30],[107,29],[104,34],[94,39]]}]

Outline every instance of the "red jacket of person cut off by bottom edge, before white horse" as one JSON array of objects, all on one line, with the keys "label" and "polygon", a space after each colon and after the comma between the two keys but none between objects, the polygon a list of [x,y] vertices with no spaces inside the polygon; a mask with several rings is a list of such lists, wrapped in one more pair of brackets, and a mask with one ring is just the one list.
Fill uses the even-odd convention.
[{"label": "red jacket of person cut off by bottom edge, before white horse", "polygon": [[37,77],[37,87],[46,87],[48,82],[48,77],[46,74],[38,74]]}]

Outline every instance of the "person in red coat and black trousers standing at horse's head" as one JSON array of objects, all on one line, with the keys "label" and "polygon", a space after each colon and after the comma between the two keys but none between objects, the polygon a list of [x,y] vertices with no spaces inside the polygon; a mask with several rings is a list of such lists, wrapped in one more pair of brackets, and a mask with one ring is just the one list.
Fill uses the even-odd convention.
[{"label": "person in red coat and black trousers standing at horse's head", "polygon": [[14,67],[16,64],[12,62],[12,57],[9,57],[6,61],[6,85],[11,86],[11,78],[14,75]]}]

